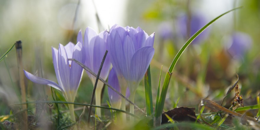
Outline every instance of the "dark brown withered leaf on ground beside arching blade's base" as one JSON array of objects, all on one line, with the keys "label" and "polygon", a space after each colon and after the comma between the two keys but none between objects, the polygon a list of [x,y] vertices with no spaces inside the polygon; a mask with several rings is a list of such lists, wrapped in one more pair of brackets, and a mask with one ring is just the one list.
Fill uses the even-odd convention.
[{"label": "dark brown withered leaf on ground beside arching blade's base", "polygon": [[195,108],[180,107],[166,111],[162,114],[162,124],[168,123],[165,113],[174,121],[196,121]]}]

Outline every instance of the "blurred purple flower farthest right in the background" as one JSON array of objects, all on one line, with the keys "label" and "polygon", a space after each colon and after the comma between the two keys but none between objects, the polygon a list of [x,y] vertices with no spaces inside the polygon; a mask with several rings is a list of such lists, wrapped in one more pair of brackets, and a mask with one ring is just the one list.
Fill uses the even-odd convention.
[{"label": "blurred purple flower farthest right in the background", "polygon": [[228,52],[235,59],[243,58],[246,51],[251,48],[252,39],[246,33],[234,32],[230,40],[231,46],[228,48]]}]

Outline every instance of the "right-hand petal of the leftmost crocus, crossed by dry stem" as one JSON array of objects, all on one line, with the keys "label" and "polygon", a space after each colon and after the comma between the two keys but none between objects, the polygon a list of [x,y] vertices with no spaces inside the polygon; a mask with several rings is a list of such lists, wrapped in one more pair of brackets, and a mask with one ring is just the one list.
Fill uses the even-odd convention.
[{"label": "right-hand petal of the leftmost crocus, crossed by dry stem", "polygon": [[[78,42],[73,51],[73,57],[77,61],[83,63],[85,61],[85,58],[83,56],[85,54],[83,50],[82,43]],[[69,86],[70,90],[78,90],[79,82],[81,80],[83,68],[79,66],[76,62],[72,61],[71,67],[70,67],[70,74],[69,74]]]}]

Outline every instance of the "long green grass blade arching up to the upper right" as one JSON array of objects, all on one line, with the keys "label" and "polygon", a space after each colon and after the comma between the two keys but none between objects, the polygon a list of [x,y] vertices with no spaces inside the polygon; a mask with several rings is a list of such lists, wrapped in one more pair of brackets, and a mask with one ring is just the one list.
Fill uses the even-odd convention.
[{"label": "long green grass blade arching up to the upper right", "polygon": [[158,105],[158,109],[155,112],[155,117],[158,118],[161,113],[163,112],[163,105],[165,102],[165,98],[166,98],[166,93],[168,90],[168,86],[169,86],[169,82],[170,82],[170,75],[173,72],[174,66],[176,65],[178,59],[180,58],[181,54],[183,53],[183,51],[188,47],[188,45],[200,34],[202,33],[207,27],[209,27],[209,25],[211,25],[212,23],[214,23],[217,19],[219,19],[220,17],[222,17],[223,15],[234,11],[236,9],[239,9],[241,7],[235,8],[235,9],[231,9],[223,14],[221,14],[220,16],[216,17],[215,19],[213,19],[212,21],[210,21],[207,25],[205,25],[204,27],[202,27],[199,31],[197,31],[193,36],[191,36],[191,38],[183,45],[183,47],[180,49],[180,51],[177,53],[177,55],[175,56],[175,58],[173,59],[172,64],[169,67],[168,73],[165,76],[164,79],[164,83],[163,83],[163,90],[161,92],[161,96],[160,96],[160,100],[159,100],[159,105]]}]

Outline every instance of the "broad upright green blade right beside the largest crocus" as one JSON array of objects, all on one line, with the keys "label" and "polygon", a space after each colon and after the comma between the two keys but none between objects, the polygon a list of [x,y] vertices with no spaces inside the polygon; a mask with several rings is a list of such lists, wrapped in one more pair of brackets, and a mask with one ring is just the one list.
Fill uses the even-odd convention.
[{"label": "broad upright green blade right beside the largest crocus", "polygon": [[153,113],[150,65],[144,75],[144,88],[145,88],[146,116],[150,116]]}]

